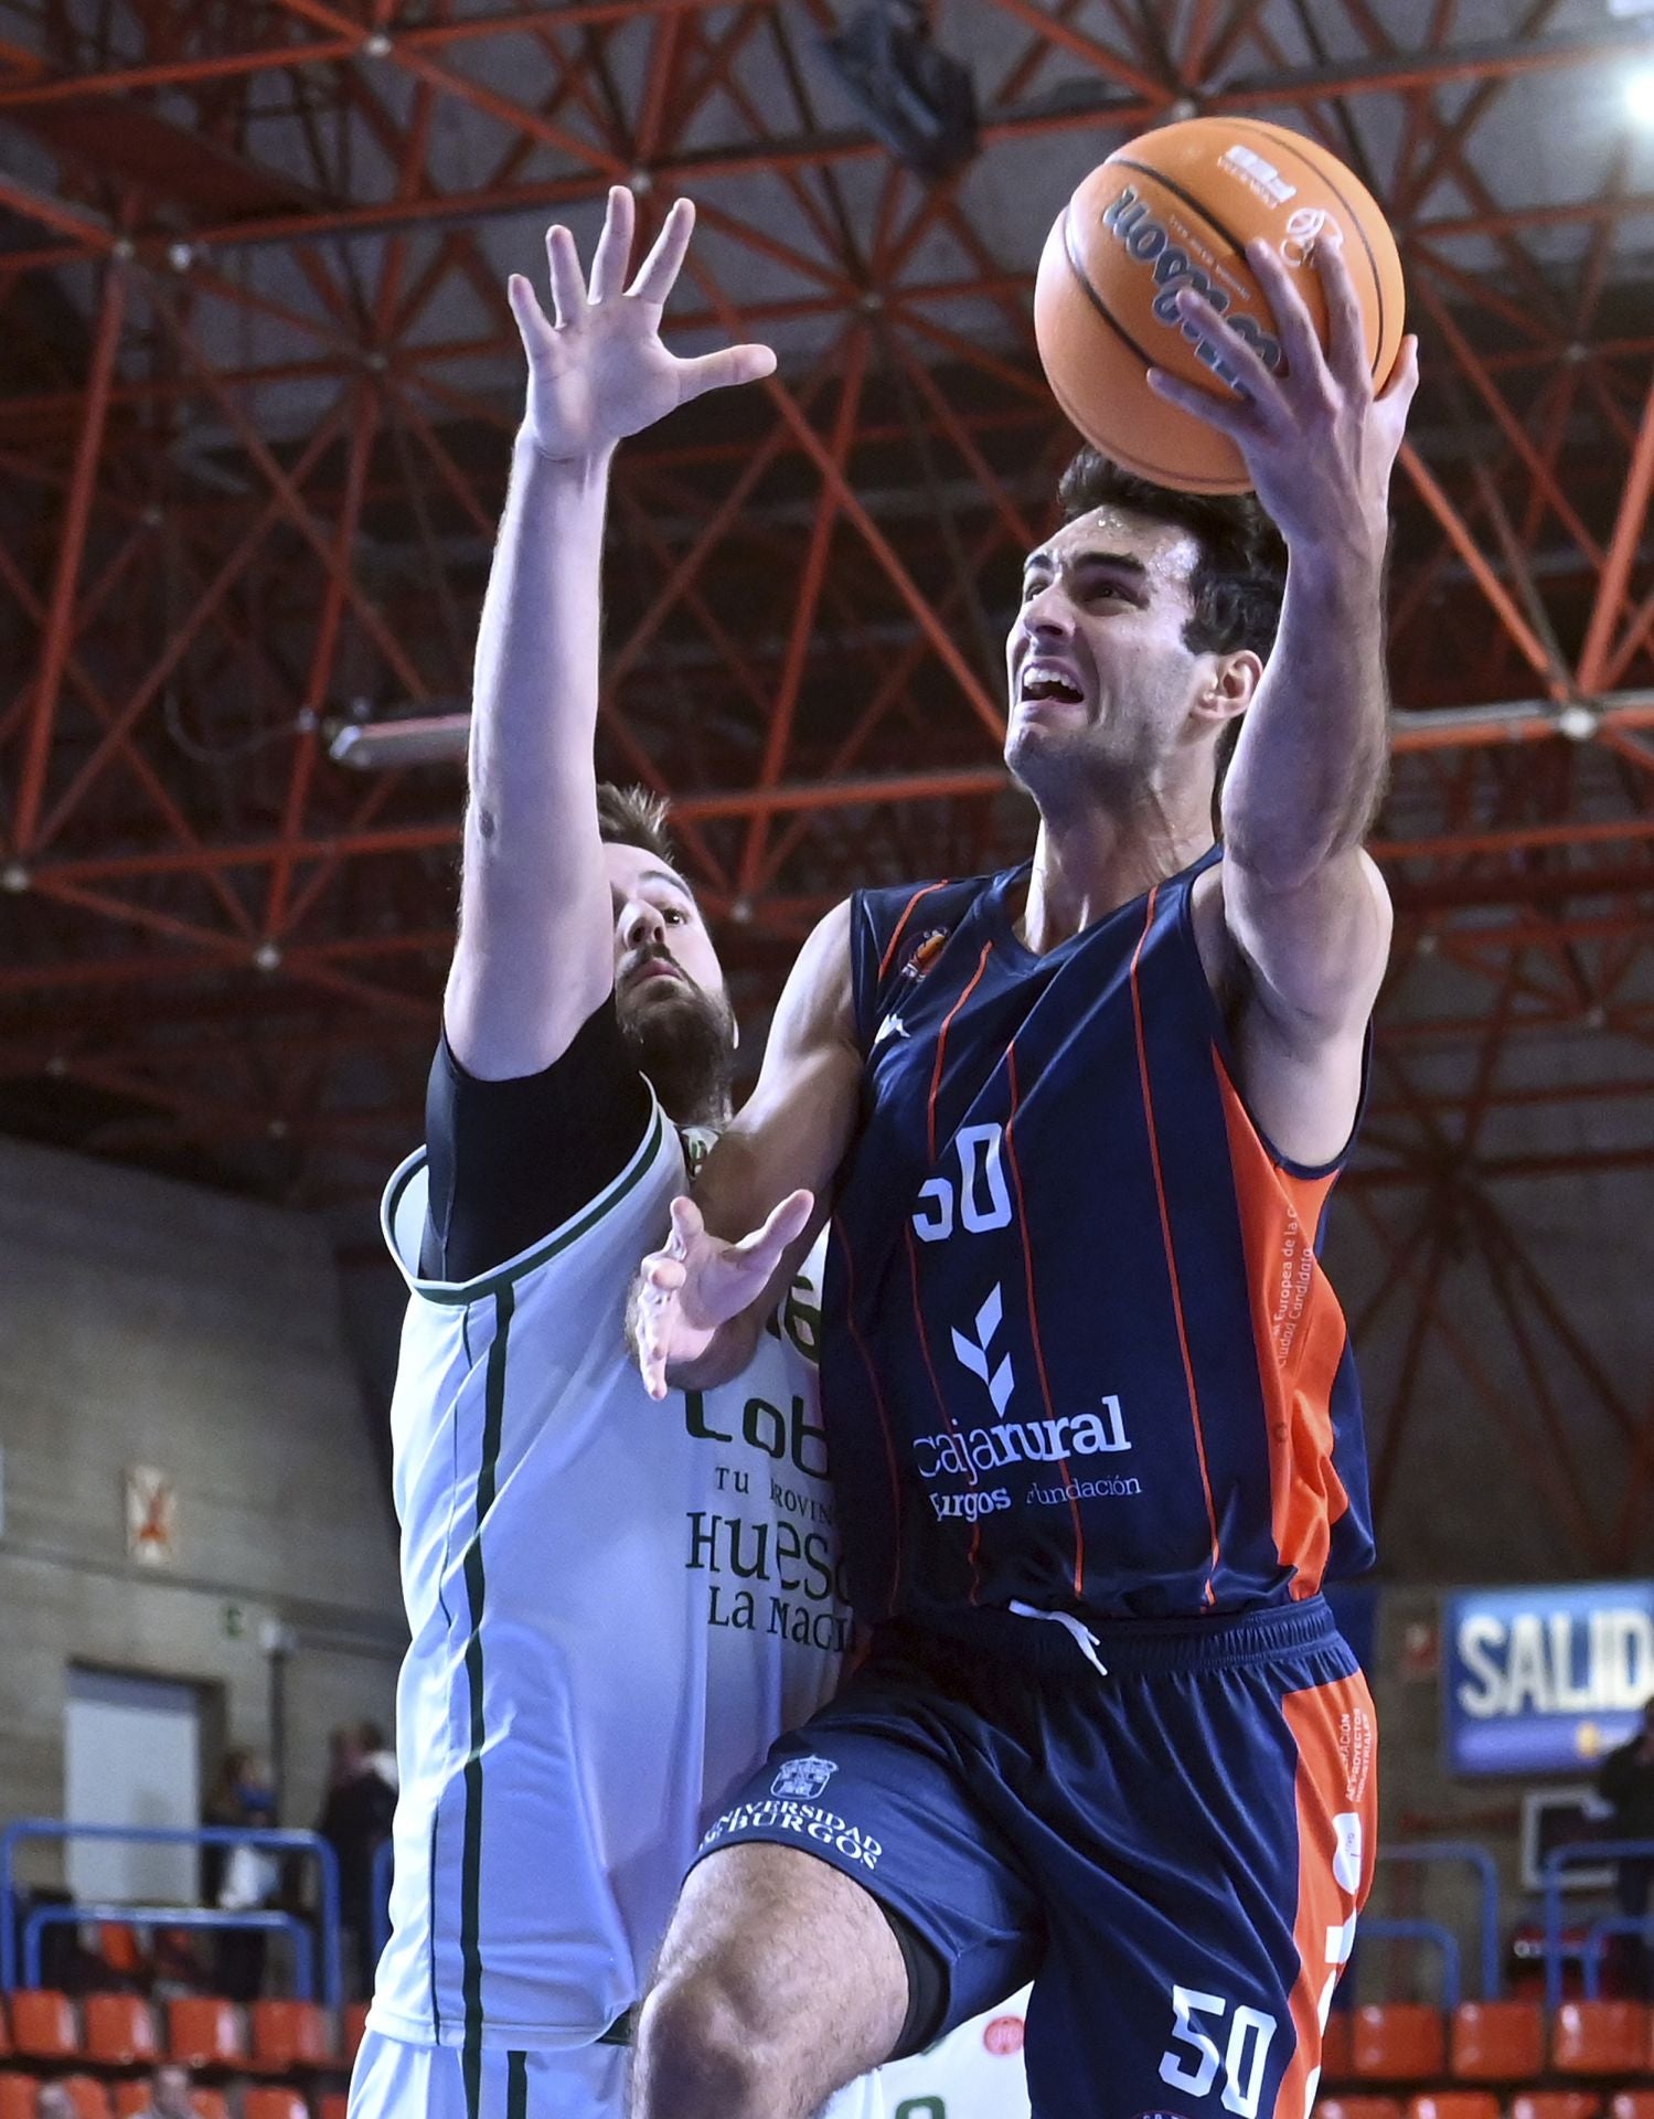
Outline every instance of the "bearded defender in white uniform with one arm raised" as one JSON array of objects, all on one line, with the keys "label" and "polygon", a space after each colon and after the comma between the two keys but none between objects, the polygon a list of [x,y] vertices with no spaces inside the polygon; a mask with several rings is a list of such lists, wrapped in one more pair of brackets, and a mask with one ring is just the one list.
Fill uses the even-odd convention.
[{"label": "bearded defender in white uniform with one arm raised", "polygon": [[[627,2015],[705,1818],[849,1646],[809,1276],[716,1392],[652,1403],[623,1337],[735,1051],[663,805],[593,767],[612,451],[773,367],[661,345],[690,222],[673,208],[629,290],[627,191],[589,288],[553,229],[555,328],[510,282],[529,390],[477,648],[460,941],[426,1148],[385,1195],[413,1642],[352,2119],[618,2119]],[[879,2111],[870,2083],[834,2102]]]}]

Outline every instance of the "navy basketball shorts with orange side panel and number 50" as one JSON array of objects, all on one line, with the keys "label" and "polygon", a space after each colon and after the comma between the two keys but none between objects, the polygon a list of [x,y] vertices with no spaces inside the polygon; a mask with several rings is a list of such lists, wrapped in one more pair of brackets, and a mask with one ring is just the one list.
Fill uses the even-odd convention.
[{"label": "navy basketball shorts with orange side panel and number 50", "polygon": [[909,1922],[940,2036],[1033,1979],[1036,2119],[1305,2119],[1372,1882],[1372,1697],[1322,1598],[1086,1634],[892,1623],[707,1831]]}]

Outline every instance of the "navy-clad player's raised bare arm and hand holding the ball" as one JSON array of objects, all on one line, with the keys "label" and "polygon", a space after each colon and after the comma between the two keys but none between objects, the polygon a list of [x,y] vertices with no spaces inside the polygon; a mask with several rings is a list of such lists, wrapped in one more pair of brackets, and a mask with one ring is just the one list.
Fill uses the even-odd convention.
[{"label": "navy-clad player's raised bare arm and hand holding the ball", "polygon": [[[1197,896],[1203,947],[1230,958],[1243,1091],[1294,1161],[1338,1155],[1355,1121],[1362,1043],[1389,956],[1389,896],[1362,852],[1383,795],[1389,695],[1383,581],[1389,479],[1419,381],[1417,341],[1374,392],[1343,252],[1322,244],[1322,352],[1292,271],[1266,246],[1247,256],[1269,292],[1286,373],[1224,326],[1245,396],[1216,400],[1171,377],[1154,388],[1211,420],[1245,456],[1288,547],[1281,627],[1224,782],[1224,860]],[[1220,979],[1222,983],[1222,979]]]}]

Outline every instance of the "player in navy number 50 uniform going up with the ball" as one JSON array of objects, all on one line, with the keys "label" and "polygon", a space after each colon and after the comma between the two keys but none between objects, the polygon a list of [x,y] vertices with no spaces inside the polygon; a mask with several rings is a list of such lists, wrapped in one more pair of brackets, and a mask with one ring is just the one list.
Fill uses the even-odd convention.
[{"label": "player in navy number 50 uniform going up with the ball", "polygon": [[644,1267],[646,1379],[707,1382],[830,1206],[824,1407],[875,1636],[703,1841],[642,2119],[803,2119],[915,2009],[940,2032],[1029,1977],[1048,2119],[1315,2094],[1374,1839],[1372,1704],[1319,1596],[1372,1543],[1317,1248],[1391,928],[1362,839],[1417,348],[1374,392],[1338,250],[1326,352],[1252,263],[1283,373],[1184,295],[1239,386],[1154,388],[1260,506],[1072,466],[1008,640],[1031,862],[822,922]]}]

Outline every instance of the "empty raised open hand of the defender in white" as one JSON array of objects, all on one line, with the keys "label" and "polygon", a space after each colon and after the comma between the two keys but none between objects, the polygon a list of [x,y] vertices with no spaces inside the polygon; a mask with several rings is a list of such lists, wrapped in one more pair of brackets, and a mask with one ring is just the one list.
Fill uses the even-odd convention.
[{"label": "empty raised open hand of the defender in white", "polygon": [[724,345],[693,360],[667,352],[661,311],[688,250],[695,208],[688,199],[673,203],[654,248],[627,284],[635,220],[631,193],[616,184],[591,256],[591,280],[580,271],[570,231],[553,227],[546,233],[553,322],[521,273],[506,282],[529,367],[523,428],[555,462],[599,456],[707,390],[758,381],[775,369],[767,345]]}]

